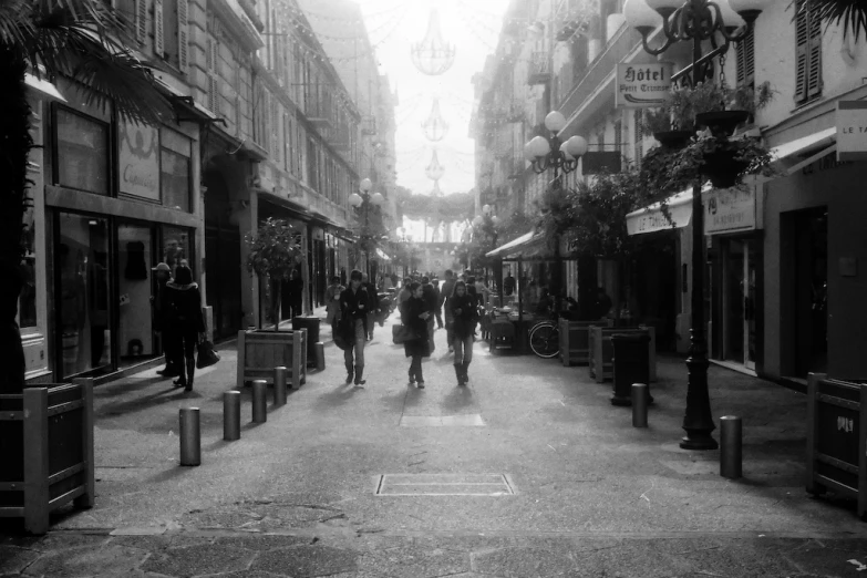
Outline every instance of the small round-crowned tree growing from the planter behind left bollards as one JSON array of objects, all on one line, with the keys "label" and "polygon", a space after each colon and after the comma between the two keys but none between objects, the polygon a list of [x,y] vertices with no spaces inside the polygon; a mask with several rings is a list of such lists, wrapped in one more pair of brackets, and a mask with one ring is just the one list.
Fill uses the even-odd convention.
[{"label": "small round-crowned tree growing from the planter behind left bollards", "polygon": [[270,316],[275,331],[280,329],[280,293],[283,279],[300,262],[302,256],[298,234],[288,221],[268,218],[255,233],[248,233],[247,270],[270,285]]}]

